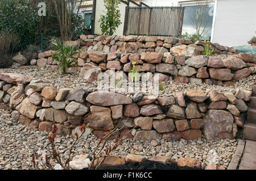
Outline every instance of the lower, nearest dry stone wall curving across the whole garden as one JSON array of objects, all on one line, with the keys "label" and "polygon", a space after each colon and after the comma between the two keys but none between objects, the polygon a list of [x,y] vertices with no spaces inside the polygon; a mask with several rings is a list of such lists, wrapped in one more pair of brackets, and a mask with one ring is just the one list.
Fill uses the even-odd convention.
[{"label": "lower, nearest dry stone wall curving across the whole garden", "polygon": [[[0,108],[10,109],[19,123],[39,131],[51,131],[53,121],[58,134],[79,132],[83,123],[92,120],[85,136],[105,132],[125,124],[121,136],[133,129],[133,140],[208,140],[233,139],[237,127],[243,127],[251,91],[212,91],[205,94],[189,90],[172,96],[127,96],[109,91],[53,87],[43,79],[25,78],[22,74],[0,74]],[[129,119],[126,119],[129,117]],[[127,121],[126,121],[127,120]]]}]

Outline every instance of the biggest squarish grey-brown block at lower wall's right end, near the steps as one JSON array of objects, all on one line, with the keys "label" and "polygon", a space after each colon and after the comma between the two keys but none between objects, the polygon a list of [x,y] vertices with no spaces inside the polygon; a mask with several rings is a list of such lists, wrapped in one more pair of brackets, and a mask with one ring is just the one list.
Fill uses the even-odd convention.
[{"label": "biggest squarish grey-brown block at lower wall's right end, near the steps", "polygon": [[224,110],[209,110],[204,117],[204,135],[207,140],[221,140],[232,136],[232,113]]}]

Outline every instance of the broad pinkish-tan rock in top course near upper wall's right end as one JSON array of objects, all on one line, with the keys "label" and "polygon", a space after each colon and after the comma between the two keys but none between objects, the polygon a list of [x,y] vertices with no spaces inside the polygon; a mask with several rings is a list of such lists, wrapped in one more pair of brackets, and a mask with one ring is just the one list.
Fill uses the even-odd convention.
[{"label": "broad pinkish-tan rock in top course near upper wall's right end", "polygon": [[239,70],[242,68],[246,68],[246,63],[243,62],[240,58],[236,58],[233,56],[229,56],[228,58],[224,58],[223,60],[224,66],[228,69]]}]

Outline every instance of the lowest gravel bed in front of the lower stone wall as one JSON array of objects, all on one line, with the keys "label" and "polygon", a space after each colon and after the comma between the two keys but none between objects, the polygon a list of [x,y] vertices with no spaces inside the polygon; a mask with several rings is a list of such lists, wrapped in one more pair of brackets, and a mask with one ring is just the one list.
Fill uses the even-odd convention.
[{"label": "lowest gravel bed in front of the lower stone wall", "polygon": [[[51,155],[47,132],[39,132],[19,124],[10,118],[10,112],[0,111],[0,169],[33,169],[31,155],[40,151]],[[71,136],[56,137],[56,150],[67,158],[68,150],[75,139]],[[90,134],[87,138],[81,138],[75,146],[79,155],[90,154],[95,148],[98,138]],[[134,153],[152,158],[155,155],[168,156],[177,159],[180,157],[195,158],[201,162],[204,169],[208,163],[216,163],[227,168],[237,148],[236,140],[221,141],[171,141],[155,140],[157,145],[151,146],[150,141],[125,140],[119,145],[113,155],[125,157]],[[155,144],[155,143],[154,143]],[[76,157],[74,157],[76,158]],[[53,165],[55,164],[52,162]],[[45,169],[40,166],[41,169]]]}]

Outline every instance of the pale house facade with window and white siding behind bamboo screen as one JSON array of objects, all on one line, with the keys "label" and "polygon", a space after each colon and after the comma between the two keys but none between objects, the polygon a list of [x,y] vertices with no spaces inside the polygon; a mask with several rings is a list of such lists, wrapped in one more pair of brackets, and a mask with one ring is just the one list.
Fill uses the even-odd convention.
[{"label": "pale house facade with window and white siding behind bamboo screen", "polygon": [[[92,16],[92,33],[100,35],[100,15],[104,13],[104,1],[84,1],[91,4],[83,5],[80,9],[85,20]],[[125,35],[125,21],[127,7],[155,7],[155,6],[181,6],[184,7],[182,34],[195,33],[192,17],[198,3],[207,5],[205,11],[205,28],[207,29],[204,39],[212,43],[220,43],[229,47],[248,44],[247,41],[255,35],[256,31],[256,1],[255,0],[121,0],[121,26],[114,35]],[[87,16],[86,16],[87,15]]]}]

